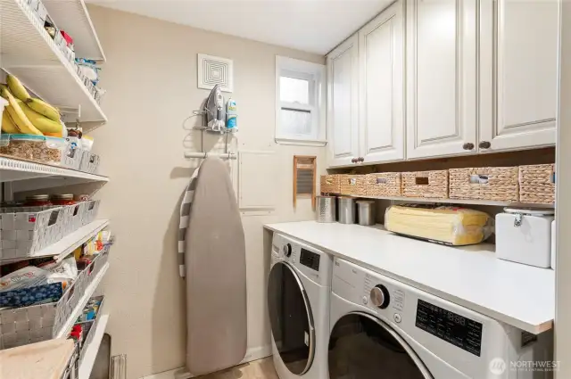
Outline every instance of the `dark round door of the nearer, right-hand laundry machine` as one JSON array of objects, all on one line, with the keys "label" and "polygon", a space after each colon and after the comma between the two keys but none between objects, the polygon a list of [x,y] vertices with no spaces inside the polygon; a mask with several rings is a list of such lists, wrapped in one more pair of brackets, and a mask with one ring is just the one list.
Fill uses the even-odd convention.
[{"label": "dark round door of the nearer, right-hand laundry machine", "polygon": [[360,312],[335,323],[328,367],[330,379],[433,379],[399,334],[377,317]]}]

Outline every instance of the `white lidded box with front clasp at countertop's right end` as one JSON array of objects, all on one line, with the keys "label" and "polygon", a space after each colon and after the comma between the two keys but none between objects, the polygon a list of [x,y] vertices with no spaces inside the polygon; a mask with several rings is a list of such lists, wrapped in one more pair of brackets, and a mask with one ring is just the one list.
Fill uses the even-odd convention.
[{"label": "white lidded box with front clasp at countertop's right end", "polygon": [[504,209],[496,215],[496,257],[550,268],[552,221],[553,210]]}]

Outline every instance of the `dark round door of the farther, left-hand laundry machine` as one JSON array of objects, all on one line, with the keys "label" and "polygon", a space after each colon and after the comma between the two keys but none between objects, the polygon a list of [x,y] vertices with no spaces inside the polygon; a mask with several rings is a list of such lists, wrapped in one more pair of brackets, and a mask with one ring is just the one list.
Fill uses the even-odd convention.
[{"label": "dark round door of the farther, left-hand laundry machine", "polygon": [[285,367],[295,375],[306,373],[315,355],[313,315],[302,281],[285,262],[269,271],[268,310],[271,333]]}]

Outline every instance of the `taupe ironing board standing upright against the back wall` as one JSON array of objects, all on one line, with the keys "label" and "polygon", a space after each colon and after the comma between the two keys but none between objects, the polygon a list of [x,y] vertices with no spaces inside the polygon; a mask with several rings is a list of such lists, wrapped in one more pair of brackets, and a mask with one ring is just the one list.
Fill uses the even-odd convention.
[{"label": "taupe ironing board standing upright against the back wall", "polygon": [[203,161],[186,229],[186,366],[202,375],[246,352],[246,265],[242,220],[228,168]]}]

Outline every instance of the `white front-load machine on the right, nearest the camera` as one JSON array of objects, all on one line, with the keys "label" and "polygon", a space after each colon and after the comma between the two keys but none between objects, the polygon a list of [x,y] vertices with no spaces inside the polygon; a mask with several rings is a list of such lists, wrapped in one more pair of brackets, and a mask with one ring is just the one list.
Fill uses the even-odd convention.
[{"label": "white front-load machine on the right, nearest the camera", "polygon": [[552,377],[550,332],[523,332],[337,258],[331,291],[330,379]]}]

